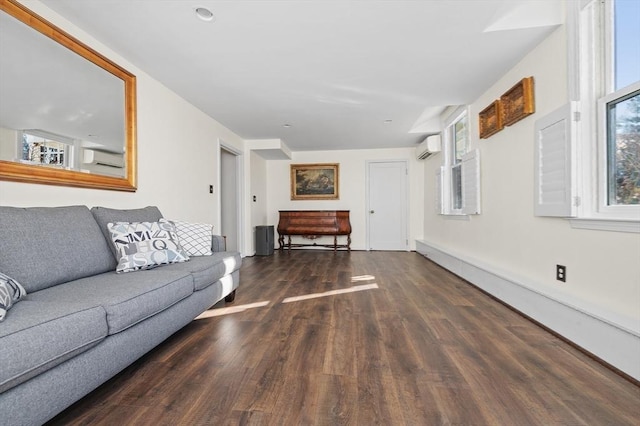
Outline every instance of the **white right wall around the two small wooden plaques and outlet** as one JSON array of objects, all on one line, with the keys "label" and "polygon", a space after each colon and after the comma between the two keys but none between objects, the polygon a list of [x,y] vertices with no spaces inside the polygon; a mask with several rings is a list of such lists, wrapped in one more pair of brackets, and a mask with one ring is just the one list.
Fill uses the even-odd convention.
[{"label": "white right wall around the two small wooden plaques and outlet", "polygon": [[[510,285],[531,289],[629,332],[635,336],[630,340],[632,347],[614,347],[608,336],[591,330],[582,330],[583,335],[576,334],[574,339],[582,339],[576,343],[605,359],[611,348],[634,354],[635,361],[618,364],[624,370],[625,362],[637,365],[640,359],[638,234],[573,229],[565,219],[533,215],[534,122],[568,101],[566,70],[562,27],[471,105],[473,145],[480,149],[482,159],[482,214],[468,221],[435,214],[435,170],[442,158],[429,159],[425,167],[424,241],[452,258],[506,278]],[[535,114],[478,141],[478,112],[527,76],[535,78]],[[566,283],[556,281],[556,264],[567,267]],[[526,308],[530,301],[516,297],[509,302]],[[577,329],[584,327],[568,327],[564,313],[531,315],[556,330],[575,329],[567,334],[579,333]],[[640,369],[632,373],[637,375]]]}]

